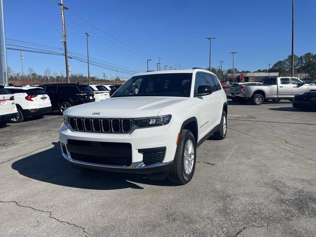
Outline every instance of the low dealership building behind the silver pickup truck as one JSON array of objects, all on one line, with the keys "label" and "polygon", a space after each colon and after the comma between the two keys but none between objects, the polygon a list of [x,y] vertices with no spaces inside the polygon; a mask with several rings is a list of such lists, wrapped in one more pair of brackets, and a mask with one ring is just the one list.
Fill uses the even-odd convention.
[{"label": "low dealership building behind the silver pickup truck", "polygon": [[[278,77],[279,73],[235,73],[234,82],[260,82],[270,77]],[[233,81],[233,74],[228,74],[229,81]]]}]

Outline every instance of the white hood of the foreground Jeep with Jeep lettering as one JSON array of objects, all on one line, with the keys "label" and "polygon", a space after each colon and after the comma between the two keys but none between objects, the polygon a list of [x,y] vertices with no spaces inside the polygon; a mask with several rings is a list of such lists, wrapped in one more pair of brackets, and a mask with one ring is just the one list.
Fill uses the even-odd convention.
[{"label": "white hood of the foreground Jeep with Jeep lettering", "polygon": [[85,118],[142,118],[158,116],[162,108],[187,100],[187,97],[116,97],[78,105],[65,115]]}]

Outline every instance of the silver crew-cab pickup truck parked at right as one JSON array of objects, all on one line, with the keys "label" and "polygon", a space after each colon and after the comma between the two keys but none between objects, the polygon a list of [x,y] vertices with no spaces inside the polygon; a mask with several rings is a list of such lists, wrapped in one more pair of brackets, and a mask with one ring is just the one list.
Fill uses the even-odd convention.
[{"label": "silver crew-cab pickup truck parked at right", "polygon": [[294,95],[307,91],[316,91],[316,85],[305,84],[297,78],[277,77],[265,79],[262,85],[240,86],[232,100],[240,102],[251,101],[253,105],[261,105],[268,99],[275,101],[292,100]]}]

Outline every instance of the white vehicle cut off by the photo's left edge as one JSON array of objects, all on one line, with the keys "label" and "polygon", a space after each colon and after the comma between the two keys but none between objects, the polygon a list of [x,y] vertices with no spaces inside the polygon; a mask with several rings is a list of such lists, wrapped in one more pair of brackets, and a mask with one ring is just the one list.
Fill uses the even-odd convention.
[{"label": "white vehicle cut off by the photo's left edge", "polygon": [[0,126],[7,124],[17,112],[14,96],[3,85],[0,85]]}]

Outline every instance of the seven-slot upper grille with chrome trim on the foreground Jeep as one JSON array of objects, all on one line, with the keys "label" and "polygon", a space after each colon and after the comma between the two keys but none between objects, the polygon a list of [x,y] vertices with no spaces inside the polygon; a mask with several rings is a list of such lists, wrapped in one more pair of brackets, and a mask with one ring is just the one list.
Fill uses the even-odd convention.
[{"label": "seven-slot upper grille with chrome trim on the foreground Jeep", "polygon": [[[70,129],[74,132],[95,133],[130,133],[132,131],[131,118],[77,118],[70,117]],[[94,125],[94,123],[96,123]],[[99,124],[99,127],[97,125]],[[113,124],[115,123],[115,124]],[[73,124],[74,126],[72,126]],[[90,126],[90,127],[89,127]],[[82,128],[82,129],[81,129]],[[91,128],[91,129],[89,129]],[[127,129],[128,128],[128,129]]]}]

